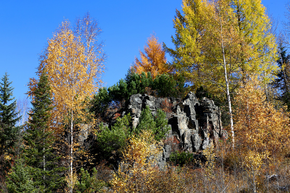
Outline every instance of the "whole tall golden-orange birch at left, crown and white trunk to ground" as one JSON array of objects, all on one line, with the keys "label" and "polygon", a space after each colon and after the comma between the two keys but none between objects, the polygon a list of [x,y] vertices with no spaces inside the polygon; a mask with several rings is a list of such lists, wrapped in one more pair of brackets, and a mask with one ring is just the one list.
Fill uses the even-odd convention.
[{"label": "whole tall golden-orange birch at left, crown and white trunk to ground", "polygon": [[[75,153],[79,150],[76,129],[79,122],[86,122],[88,114],[86,98],[91,97],[102,84],[100,76],[104,72],[104,58],[101,45],[96,43],[94,33],[99,28],[96,21],[86,14],[79,19],[76,29],[64,20],[48,40],[45,52],[40,58],[37,75],[43,71],[50,82],[53,110],[52,126],[58,136],[65,136],[64,158],[68,163],[67,182],[69,192],[75,184]],[[30,81],[30,90],[34,89],[35,79]],[[81,121],[80,121],[81,120]]]}]

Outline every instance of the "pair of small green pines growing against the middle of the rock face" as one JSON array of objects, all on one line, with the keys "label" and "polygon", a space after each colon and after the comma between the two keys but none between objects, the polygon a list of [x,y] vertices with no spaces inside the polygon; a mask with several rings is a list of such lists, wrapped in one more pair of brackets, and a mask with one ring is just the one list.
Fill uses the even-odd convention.
[{"label": "pair of small green pines growing against the middle of the rock face", "polygon": [[141,130],[151,130],[155,140],[160,141],[165,137],[169,129],[166,113],[161,109],[157,109],[156,115],[153,117],[149,106],[146,106],[140,115],[136,133]]}]

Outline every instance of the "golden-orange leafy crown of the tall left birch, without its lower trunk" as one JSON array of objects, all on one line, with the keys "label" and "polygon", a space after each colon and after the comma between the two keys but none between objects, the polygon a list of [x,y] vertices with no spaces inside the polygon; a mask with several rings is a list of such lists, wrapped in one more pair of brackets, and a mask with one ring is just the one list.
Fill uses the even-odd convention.
[{"label": "golden-orange leafy crown of the tall left birch, without its lower trunk", "polygon": [[[45,70],[48,75],[54,109],[51,113],[54,130],[62,132],[63,122],[73,112],[73,122],[82,114],[83,102],[102,84],[100,76],[104,65],[96,54],[88,54],[81,38],[74,36],[69,21],[64,21],[40,58],[37,75]],[[28,84],[31,95],[37,80]],[[32,96],[33,97],[33,96]],[[85,116],[81,117],[82,119]]]}]

